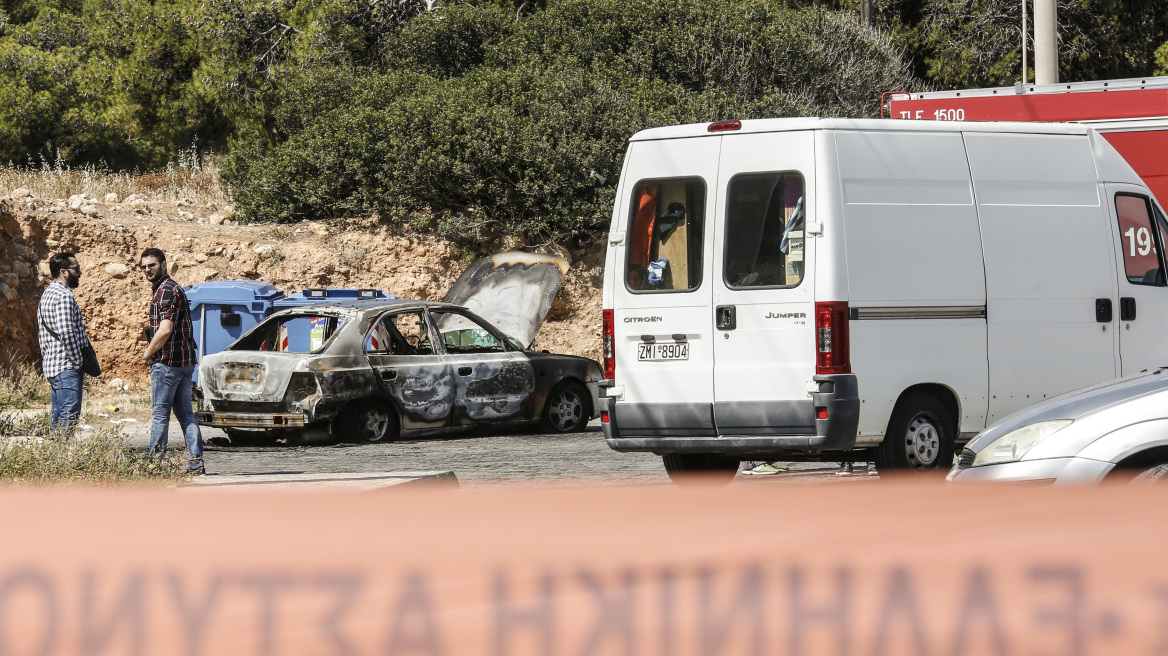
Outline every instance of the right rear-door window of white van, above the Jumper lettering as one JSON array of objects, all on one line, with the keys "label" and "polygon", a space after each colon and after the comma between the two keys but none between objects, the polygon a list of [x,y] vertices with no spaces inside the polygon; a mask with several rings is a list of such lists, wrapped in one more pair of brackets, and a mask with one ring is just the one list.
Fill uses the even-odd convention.
[{"label": "right rear-door window of white van, above the Jumper lettering", "polygon": [[736,175],[726,189],[726,286],[793,287],[804,275],[804,177]]}]

